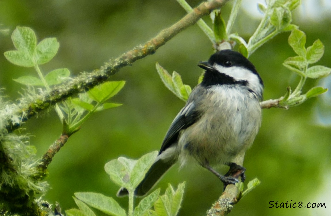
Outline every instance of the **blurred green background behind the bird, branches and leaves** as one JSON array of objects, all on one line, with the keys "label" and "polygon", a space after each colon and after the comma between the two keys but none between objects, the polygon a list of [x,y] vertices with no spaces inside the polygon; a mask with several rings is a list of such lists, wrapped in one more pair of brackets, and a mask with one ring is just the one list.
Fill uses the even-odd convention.
[{"label": "blurred green background behind the bird, branches and leaves", "polygon": [[[196,6],[200,1],[188,2]],[[320,13],[327,9],[321,1],[313,2],[313,6],[307,3],[296,10],[294,23],[306,32],[306,46],[317,38],[324,43],[325,54],[317,64],[331,67],[331,16]],[[252,1],[243,1],[243,5],[234,30],[248,39],[258,24],[255,17],[258,11]],[[244,10],[250,8],[254,10]],[[231,3],[222,9],[225,19],[230,10]],[[318,15],[310,16],[308,12],[314,11]],[[0,1],[0,23],[4,27],[12,31],[16,26],[28,26],[35,30],[38,41],[56,37],[60,42],[59,53],[42,66],[43,72],[67,67],[72,76],[99,68],[109,58],[147,41],[184,15],[174,0]],[[208,17],[204,19],[210,23]],[[294,88],[298,82],[282,66],[287,57],[295,55],[287,44],[288,35],[278,35],[250,57],[264,81],[265,99],[280,97],[288,85]],[[12,49],[10,34],[1,35],[0,53]],[[110,182],[104,164],[119,156],[138,158],[158,150],[170,123],[184,105],[163,85],[155,63],[159,62],[169,72],[177,71],[193,87],[202,72],[197,63],[207,60],[212,53],[212,44],[195,25],[179,33],[154,55],[111,77],[126,81],[112,100],[123,106],[96,113],[70,137],[49,166],[47,181],[51,189],[44,198],[69,209],[75,207],[72,196],[77,191],[115,196],[118,186]],[[20,97],[24,87],[12,79],[22,75],[36,74],[33,69],[10,64],[0,55],[0,87],[5,88],[3,94],[12,101]],[[329,78],[308,80],[304,91],[316,84],[331,87],[330,83]],[[257,177],[261,184],[235,205],[231,215],[331,215],[330,98],[327,92],[289,110],[263,110],[260,132],[244,162],[247,182]],[[30,142],[36,146],[38,157],[62,132],[53,110],[29,120],[24,127],[23,134],[33,135]],[[168,183],[176,186],[183,181],[186,191],[179,215],[205,215],[223,188],[213,174],[199,166],[180,171],[175,166],[157,187],[164,191]],[[127,198],[116,199],[127,207]],[[327,208],[269,208],[271,200],[302,201],[304,205],[321,202]]]}]

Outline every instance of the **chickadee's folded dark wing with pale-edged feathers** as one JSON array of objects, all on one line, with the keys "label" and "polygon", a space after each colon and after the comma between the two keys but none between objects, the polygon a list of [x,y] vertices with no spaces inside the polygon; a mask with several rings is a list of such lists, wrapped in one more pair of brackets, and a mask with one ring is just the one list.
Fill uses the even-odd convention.
[{"label": "chickadee's folded dark wing with pale-edged feathers", "polygon": [[193,125],[201,117],[201,112],[195,110],[195,104],[190,102],[180,110],[170,125],[168,132],[163,140],[159,154],[177,141],[179,132]]}]

